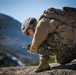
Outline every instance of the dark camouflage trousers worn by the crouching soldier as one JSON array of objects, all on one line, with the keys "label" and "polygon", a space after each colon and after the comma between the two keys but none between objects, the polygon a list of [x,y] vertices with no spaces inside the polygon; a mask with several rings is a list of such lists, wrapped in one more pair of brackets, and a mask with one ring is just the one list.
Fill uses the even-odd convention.
[{"label": "dark camouflage trousers worn by the crouching soldier", "polygon": [[40,59],[49,59],[50,55],[56,55],[57,62],[66,64],[76,58],[76,42],[60,37],[59,34],[49,34],[47,39],[38,49]]}]

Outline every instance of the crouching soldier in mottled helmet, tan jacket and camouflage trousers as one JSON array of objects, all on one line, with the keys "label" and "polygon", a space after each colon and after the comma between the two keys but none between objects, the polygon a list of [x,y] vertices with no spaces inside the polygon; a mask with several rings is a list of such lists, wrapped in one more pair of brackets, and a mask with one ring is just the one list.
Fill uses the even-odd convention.
[{"label": "crouching soldier in mottled helmet, tan jacket and camouflage trousers", "polygon": [[34,35],[29,52],[40,56],[40,64],[35,72],[50,69],[50,55],[57,55],[60,64],[76,58],[76,19],[67,12],[72,8],[64,9],[50,8],[44,11],[38,22],[35,18],[28,18],[22,24],[24,35]]}]

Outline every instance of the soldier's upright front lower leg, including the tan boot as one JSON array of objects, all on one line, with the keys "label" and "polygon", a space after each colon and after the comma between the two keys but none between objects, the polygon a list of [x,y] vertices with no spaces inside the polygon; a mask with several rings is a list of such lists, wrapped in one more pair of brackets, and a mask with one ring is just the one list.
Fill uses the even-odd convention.
[{"label": "soldier's upright front lower leg, including the tan boot", "polygon": [[44,50],[44,49],[39,49],[38,50],[38,54],[40,57],[40,63],[37,69],[35,69],[35,72],[41,72],[41,71],[45,71],[45,70],[49,70],[50,66],[49,66],[49,58],[50,55],[48,54],[48,50]]}]

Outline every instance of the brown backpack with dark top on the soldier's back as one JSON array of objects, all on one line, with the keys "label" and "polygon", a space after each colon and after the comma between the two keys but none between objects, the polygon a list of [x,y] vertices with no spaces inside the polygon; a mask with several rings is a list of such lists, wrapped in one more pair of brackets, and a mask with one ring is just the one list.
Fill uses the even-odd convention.
[{"label": "brown backpack with dark top on the soldier's back", "polygon": [[65,25],[73,26],[76,20],[76,8],[72,7],[63,7],[62,9],[49,8],[44,11],[40,19],[42,18],[56,19]]}]

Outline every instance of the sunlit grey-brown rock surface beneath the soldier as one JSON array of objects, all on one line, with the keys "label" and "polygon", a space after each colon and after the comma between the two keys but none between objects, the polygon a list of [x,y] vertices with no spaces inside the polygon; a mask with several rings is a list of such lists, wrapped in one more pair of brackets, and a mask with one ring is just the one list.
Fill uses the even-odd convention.
[{"label": "sunlit grey-brown rock surface beneath the soldier", "polygon": [[33,70],[37,66],[23,66],[23,67],[2,67],[0,68],[0,75],[76,75],[76,60],[71,63],[60,65],[58,63],[50,64],[51,70],[34,73]]}]

